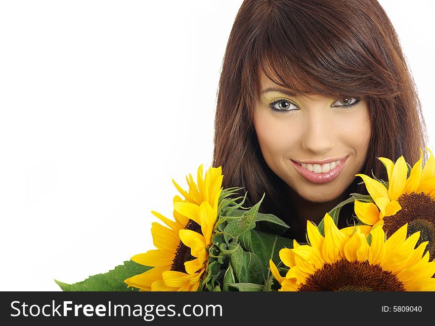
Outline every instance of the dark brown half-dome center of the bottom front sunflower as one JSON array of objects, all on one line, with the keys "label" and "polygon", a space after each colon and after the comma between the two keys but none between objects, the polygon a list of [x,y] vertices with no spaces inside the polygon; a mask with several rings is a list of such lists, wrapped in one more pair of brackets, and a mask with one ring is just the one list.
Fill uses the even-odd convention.
[{"label": "dark brown half-dome center of the bottom front sunflower", "polygon": [[306,279],[299,291],[405,291],[405,287],[378,265],[343,259],[325,264]]}]

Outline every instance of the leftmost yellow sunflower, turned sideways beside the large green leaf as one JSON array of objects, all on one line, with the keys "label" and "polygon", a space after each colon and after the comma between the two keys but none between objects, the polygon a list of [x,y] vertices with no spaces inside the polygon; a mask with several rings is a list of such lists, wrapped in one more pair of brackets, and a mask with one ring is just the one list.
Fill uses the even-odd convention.
[{"label": "leftmost yellow sunflower, turned sideways beside the large green leaf", "polygon": [[174,185],[185,197],[174,196],[174,221],[152,212],[166,226],[152,223],[155,250],[131,257],[131,260],[151,266],[145,273],[124,282],[141,291],[196,291],[208,261],[208,249],[217,219],[221,191],[221,168],[209,168],[203,177],[198,168],[197,183],[190,175],[189,189]]}]

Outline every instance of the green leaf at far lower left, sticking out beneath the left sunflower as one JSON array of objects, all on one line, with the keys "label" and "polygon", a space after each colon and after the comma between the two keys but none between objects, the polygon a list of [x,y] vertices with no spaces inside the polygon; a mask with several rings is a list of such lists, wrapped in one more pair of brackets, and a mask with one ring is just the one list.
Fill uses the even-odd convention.
[{"label": "green leaf at far lower left, sticking out beneath the left sunflower", "polygon": [[152,267],[140,265],[133,261],[125,261],[123,265],[118,265],[113,270],[105,274],[90,276],[84,281],[74,284],[67,284],[54,280],[63,291],[135,291],[136,288],[127,287],[124,283],[134,275],[141,274],[150,270]]}]

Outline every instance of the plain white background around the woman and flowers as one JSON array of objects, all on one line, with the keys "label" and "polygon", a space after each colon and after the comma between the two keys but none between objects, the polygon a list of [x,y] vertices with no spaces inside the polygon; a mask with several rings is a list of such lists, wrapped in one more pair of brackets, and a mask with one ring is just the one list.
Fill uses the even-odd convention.
[{"label": "plain white background around the woman and flowers", "polygon": [[[431,130],[435,6],[380,2]],[[211,165],[241,3],[0,1],[0,290],[58,291],[154,248],[172,178]]]}]

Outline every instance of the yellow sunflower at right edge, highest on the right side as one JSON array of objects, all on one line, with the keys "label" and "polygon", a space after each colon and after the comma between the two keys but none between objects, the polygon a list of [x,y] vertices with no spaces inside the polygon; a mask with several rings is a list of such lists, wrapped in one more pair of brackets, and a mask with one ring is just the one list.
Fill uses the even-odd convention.
[{"label": "yellow sunflower at right edge, highest on the right side", "polygon": [[[426,147],[427,148],[427,147]],[[387,236],[408,224],[408,235],[421,231],[417,244],[429,241],[426,248],[430,260],[435,258],[435,158],[432,151],[422,168],[423,151],[408,175],[408,167],[403,156],[395,163],[385,157],[388,186],[364,174],[357,174],[364,181],[374,203],[355,200],[355,214],[369,226],[383,225]]]}]

